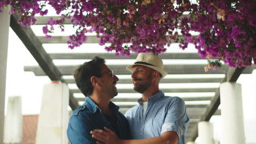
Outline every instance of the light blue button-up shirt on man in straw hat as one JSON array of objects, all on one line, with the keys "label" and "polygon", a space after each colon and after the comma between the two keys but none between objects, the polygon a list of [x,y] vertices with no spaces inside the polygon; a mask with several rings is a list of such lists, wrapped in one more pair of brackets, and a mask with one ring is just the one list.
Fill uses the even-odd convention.
[{"label": "light blue button-up shirt on man in straw hat", "polygon": [[142,98],[139,105],[125,113],[131,129],[131,139],[148,139],[160,136],[166,131],[175,131],[178,144],[185,143],[185,131],[189,118],[184,101],[179,97],[167,97],[162,91],[148,99],[148,106],[143,117]]}]

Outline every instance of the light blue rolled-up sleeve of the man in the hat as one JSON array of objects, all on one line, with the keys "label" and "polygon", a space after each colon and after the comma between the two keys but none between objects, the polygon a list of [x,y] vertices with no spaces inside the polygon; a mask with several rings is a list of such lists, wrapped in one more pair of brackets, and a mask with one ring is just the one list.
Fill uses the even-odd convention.
[{"label": "light blue rolled-up sleeve of the man in the hat", "polygon": [[189,118],[186,112],[184,101],[179,97],[173,97],[173,100],[167,106],[165,121],[161,128],[161,134],[166,131],[175,131],[181,139],[185,130],[188,128]]}]

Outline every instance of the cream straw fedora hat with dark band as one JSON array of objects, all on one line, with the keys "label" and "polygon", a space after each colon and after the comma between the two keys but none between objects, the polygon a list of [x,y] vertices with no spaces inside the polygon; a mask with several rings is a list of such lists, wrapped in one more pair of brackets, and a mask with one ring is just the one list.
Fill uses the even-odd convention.
[{"label": "cream straw fedora hat with dark band", "polygon": [[152,53],[139,53],[136,58],[136,62],[132,65],[128,65],[126,69],[132,71],[132,67],[134,65],[144,65],[145,67],[152,68],[162,75],[161,78],[164,78],[167,75],[166,71],[164,70],[162,59]]}]

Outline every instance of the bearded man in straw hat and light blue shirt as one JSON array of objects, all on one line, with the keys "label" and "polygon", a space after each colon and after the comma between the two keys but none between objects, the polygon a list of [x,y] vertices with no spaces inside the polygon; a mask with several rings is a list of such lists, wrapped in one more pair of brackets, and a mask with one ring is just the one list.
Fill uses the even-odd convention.
[{"label": "bearded man in straw hat and light blue shirt", "polygon": [[139,53],[136,62],[126,69],[132,72],[133,89],[142,94],[138,105],[125,113],[133,140],[119,140],[108,128],[91,131],[92,137],[111,144],[184,144],[189,118],[181,98],[167,97],[159,90],[160,79],[167,75],[161,58],[151,53]]}]

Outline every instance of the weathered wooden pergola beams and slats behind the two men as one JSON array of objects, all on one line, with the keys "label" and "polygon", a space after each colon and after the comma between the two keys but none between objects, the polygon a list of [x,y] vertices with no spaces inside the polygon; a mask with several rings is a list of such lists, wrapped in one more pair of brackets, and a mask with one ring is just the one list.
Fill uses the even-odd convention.
[{"label": "weathered wooden pergola beams and slats behind the two men", "polygon": [[[37,25],[45,25],[49,17],[37,17]],[[57,19],[57,17],[54,17]],[[78,65],[55,65],[53,63],[54,59],[84,59],[88,60],[94,56],[100,56],[102,58],[108,59],[118,59],[122,61],[123,59],[135,59],[137,54],[131,53],[130,57],[115,57],[114,53],[46,53],[42,44],[61,44],[66,43],[67,37],[64,36],[54,36],[53,39],[44,39],[42,36],[36,37],[31,28],[25,28],[20,26],[17,23],[18,16],[15,14],[11,15],[11,28],[14,29],[15,33],[19,36],[22,42],[25,44],[27,49],[31,52],[33,57],[37,60],[39,66],[26,66],[24,67],[25,71],[32,71],[36,76],[47,75],[51,80],[59,80],[67,84],[74,84],[74,79],[65,78],[65,75],[73,75],[73,71]],[[65,24],[70,24],[68,21]],[[98,43],[98,39],[92,35],[88,36],[88,43]],[[54,47],[53,47],[54,48]],[[164,53],[160,56],[162,59],[201,59],[197,53],[182,53],[182,52],[169,52]],[[81,63],[82,64],[82,63]],[[130,75],[131,73],[125,69],[126,65],[124,64],[115,64],[109,65],[109,68],[113,69],[116,75]],[[191,77],[187,78],[165,78],[161,80],[161,83],[191,83],[196,85],[196,83],[212,83],[212,82],[225,82],[225,81],[236,81],[240,74],[251,74],[255,69],[253,67],[247,68],[229,68],[228,65],[223,65],[223,67],[217,70],[209,70],[207,73],[204,71],[205,64],[165,64],[165,70],[168,74],[182,75],[182,74],[191,74]],[[194,78],[193,74],[225,74],[225,77],[202,77]],[[131,83],[131,80],[126,78],[120,78],[118,83],[125,84]],[[73,96],[74,93],[80,93],[78,88],[69,88],[70,89],[70,98],[69,105],[72,109],[75,109],[78,106],[78,101],[82,103],[84,98]],[[197,137],[197,123],[200,121],[209,121],[211,116],[220,115],[220,110],[218,106],[220,104],[219,99],[219,88],[161,88],[165,93],[201,93],[211,92],[214,93],[214,96],[195,96],[195,97],[182,97],[187,106],[187,112],[190,117],[190,125],[186,134],[187,141],[194,141]],[[119,94],[130,93],[135,94],[132,88],[118,89]],[[115,97],[113,99],[114,103],[117,103],[120,106],[120,112],[125,113],[130,107],[135,104],[120,104],[125,102],[136,102],[137,98],[124,98],[124,97]],[[200,103],[200,101],[206,101],[207,103]],[[193,104],[191,104],[193,102]],[[210,104],[209,104],[210,103]],[[209,105],[207,105],[209,104]]]}]

